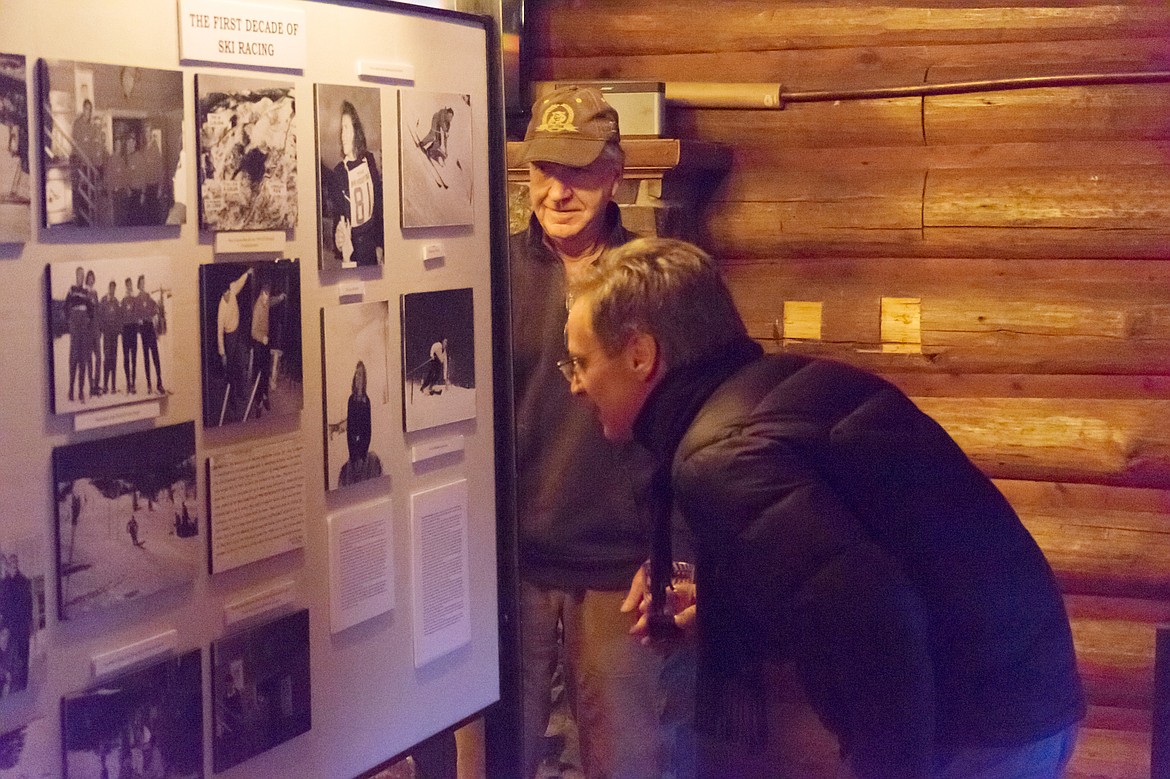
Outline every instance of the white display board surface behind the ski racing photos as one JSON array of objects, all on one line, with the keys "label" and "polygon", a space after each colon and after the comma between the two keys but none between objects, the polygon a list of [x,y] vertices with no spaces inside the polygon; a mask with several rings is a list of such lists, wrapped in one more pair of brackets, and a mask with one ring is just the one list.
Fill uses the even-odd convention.
[{"label": "white display board surface behind the ski racing photos", "polygon": [[[183,74],[183,157],[167,186],[184,195],[176,201],[181,200],[187,207],[184,220],[166,225],[42,227],[41,197],[47,178],[61,187],[78,187],[78,205],[84,189],[82,182],[70,181],[64,161],[57,166],[60,170],[46,170],[41,154],[33,154],[32,237],[23,243],[0,243],[0,296],[4,298],[0,342],[6,344],[0,352],[0,397],[5,399],[0,408],[4,430],[0,505],[4,506],[6,530],[9,535],[39,537],[43,558],[54,559],[50,550],[56,502],[51,494],[50,461],[54,448],[70,443],[194,420],[201,511],[211,509],[208,457],[229,463],[241,453],[292,436],[300,446],[300,455],[292,460],[298,460],[303,468],[303,478],[284,481],[303,489],[298,502],[303,511],[303,539],[289,542],[285,538],[297,535],[296,528],[302,526],[302,521],[297,519],[290,523],[288,533],[282,531],[283,551],[259,554],[260,559],[254,561],[248,561],[250,554],[243,554],[242,564],[225,566],[229,570],[214,574],[206,564],[201,565],[193,584],[84,619],[62,622],[54,609],[49,609],[47,627],[39,639],[46,647],[44,673],[32,677],[27,690],[0,699],[0,732],[33,723],[30,728],[35,729],[36,737],[27,739],[26,753],[20,758],[20,765],[28,766],[30,775],[42,775],[37,771],[60,775],[60,701],[92,685],[95,662],[102,664],[111,656],[131,656],[140,647],[156,644],[164,656],[193,649],[204,652],[204,771],[205,775],[213,775],[211,646],[238,629],[291,609],[309,611],[311,730],[215,775],[226,779],[349,779],[483,711],[500,695],[494,439],[497,412],[493,391],[491,319],[497,306],[491,258],[500,250],[500,235],[505,228],[495,192],[498,188],[502,199],[500,129],[503,113],[494,64],[498,51],[489,51],[496,47],[494,30],[489,27],[491,22],[479,16],[400,4],[255,0],[255,5],[268,6],[273,13],[288,12],[284,18],[295,20],[297,27],[291,36],[287,27],[275,32],[271,26],[257,29],[254,42],[262,43],[263,35],[282,33],[284,39],[303,44],[303,67],[297,67],[296,60],[281,60],[283,64],[269,71],[263,66],[243,67],[218,60],[209,53],[188,57],[180,51],[180,7],[186,11],[187,6],[204,6],[211,13],[211,6],[225,6],[230,11],[240,5],[243,4],[186,0],[4,0],[2,4],[0,53],[21,54],[28,62],[29,130],[34,150],[43,147],[39,60],[118,66],[117,78],[105,78],[102,75],[105,71],[99,69],[92,83],[81,80],[78,85],[70,84],[53,95],[50,101],[50,111],[73,122],[82,105],[77,90],[83,90],[94,103],[92,123],[97,130],[91,130],[106,133],[105,143],[111,154],[118,146],[113,143],[119,137],[117,133],[139,132],[147,144],[151,138],[149,126],[135,130],[136,123],[143,123],[140,117],[119,108],[125,90],[132,91],[143,83],[144,76],[137,69]],[[260,50],[263,47],[248,48]],[[379,70],[371,63],[395,63],[395,68]],[[197,152],[197,74],[294,85],[298,139],[295,178],[298,218],[294,228],[266,233],[261,236],[264,240],[257,241],[248,241],[247,234],[241,234],[235,236],[240,240],[230,243],[200,228],[199,184],[205,160]],[[319,170],[312,96],[318,83],[374,87],[383,92],[380,124],[385,137],[378,161],[386,229],[381,266],[317,268]],[[474,160],[472,223],[413,229],[400,226],[397,111],[401,90],[467,96],[462,105],[474,129],[473,149],[468,154]],[[58,140],[54,139],[50,147]],[[249,164],[259,166],[262,160],[245,161],[245,167]],[[436,253],[435,246],[441,250]],[[112,419],[111,423],[98,423],[92,429],[75,429],[71,412],[55,414],[49,405],[48,345],[54,325],[47,316],[46,266],[84,266],[109,257],[137,257],[146,262],[158,256],[174,258],[178,278],[166,308],[167,338],[174,357],[166,373],[168,394],[158,400],[160,416]],[[301,260],[303,408],[300,413],[266,415],[248,425],[206,428],[200,392],[199,266],[280,257]],[[397,302],[406,294],[464,288],[472,289],[474,295],[474,378],[477,387],[474,416],[415,433],[405,432],[399,367],[402,333],[398,317],[392,316],[391,352],[386,360],[394,374],[388,382],[391,398],[387,404],[392,415],[387,422],[392,446],[383,461],[386,477],[326,494],[321,477],[325,463],[322,354],[316,347],[321,343],[319,310],[338,303]],[[453,446],[453,441],[459,446]],[[435,447],[446,454],[418,455]],[[463,483],[467,490],[462,559],[468,593],[463,602],[466,640],[461,637],[456,652],[445,653],[422,668],[415,668],[411,496],[455,482]],[[393,607],[383,608],[383,599],[370,608],[369,619],[363,613],[363,619],[352,620],[351,625],[345,625],[349,620],[331,625],[326,519],[379,501],[388,502],[391,509],[386,512],[388,522],[384,530],[392,556],[381,570],[391,577]],[[214,512],[211,526],[215,528]],[[202,538],[206,540],[207,533]],[[44,594],[51,605],[56,598],[56,572],[48,571],[46,580],[48,592]],[[278,597],[256,600],[255,593],[277,593]],[[261,606],[248,606],[254,601]],[[267,602],[271,608],[262,606]],[[344,629],[335,633],[335,627]],[[152,640],[159,635],[168,636],[167,641]]]}]

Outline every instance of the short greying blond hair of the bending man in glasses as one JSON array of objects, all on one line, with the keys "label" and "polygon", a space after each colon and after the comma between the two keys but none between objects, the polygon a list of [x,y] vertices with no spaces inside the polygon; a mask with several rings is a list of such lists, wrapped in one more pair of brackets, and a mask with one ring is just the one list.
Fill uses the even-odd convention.
[{"label": "short greying blond hair of the bending man in glasses", "polygon": [[570,287],[587,298],[593,333],[608,354],[652,336],[668,367],[706,360],[746,329],[711,257],[675,239],[636,239],[607,251]]}]

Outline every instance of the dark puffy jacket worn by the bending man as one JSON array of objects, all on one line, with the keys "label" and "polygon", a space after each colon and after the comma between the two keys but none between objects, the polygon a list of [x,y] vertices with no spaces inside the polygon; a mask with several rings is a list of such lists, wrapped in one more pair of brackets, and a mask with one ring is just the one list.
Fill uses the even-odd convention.
[{"label": "dark puffy jacket worn by the bending man", "polygon": [[862,777],[1082,718],[1052,570],[942,427],[865,371],[745,361],[698,399],[668,373],[635,426],[697,540],[701,663],[794,660]]}]

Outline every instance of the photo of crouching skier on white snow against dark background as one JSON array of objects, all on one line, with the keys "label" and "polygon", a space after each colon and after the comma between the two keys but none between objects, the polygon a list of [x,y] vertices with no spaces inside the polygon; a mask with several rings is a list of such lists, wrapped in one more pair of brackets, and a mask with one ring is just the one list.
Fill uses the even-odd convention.
[{"label": "photo of crouching skier on white snow against dark background", "polygon": [[402,295],[402,420],[407,433],[475,419],[472,289]]}]

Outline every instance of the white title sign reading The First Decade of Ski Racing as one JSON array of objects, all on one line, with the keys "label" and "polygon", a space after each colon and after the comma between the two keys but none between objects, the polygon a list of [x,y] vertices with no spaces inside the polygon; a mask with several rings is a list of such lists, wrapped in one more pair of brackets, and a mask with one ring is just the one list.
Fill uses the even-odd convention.
[{"label": "white title sign reading The First Decade of Ski Racing", "polygon": [[179,56],[304,70],[304,12],[232,0],[179,0]]}]

